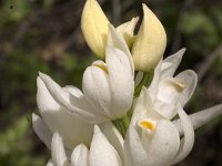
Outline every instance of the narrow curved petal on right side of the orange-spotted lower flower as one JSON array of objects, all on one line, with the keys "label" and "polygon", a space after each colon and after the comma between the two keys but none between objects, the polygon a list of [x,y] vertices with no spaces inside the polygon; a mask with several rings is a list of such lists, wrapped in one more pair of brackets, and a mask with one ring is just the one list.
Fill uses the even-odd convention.
[{"label": "narrow curved petal on right side of the orange-spotted lower flower", "polygon": [[181,105],[178,105],[178,114],[182,123],[184,137],[181,141],[180,149],[176,157],[173,159],[172,164],[176,164],[184,159],[191,152],[194,144],[194,131],[192,123],[185,112],[182,110]]}]

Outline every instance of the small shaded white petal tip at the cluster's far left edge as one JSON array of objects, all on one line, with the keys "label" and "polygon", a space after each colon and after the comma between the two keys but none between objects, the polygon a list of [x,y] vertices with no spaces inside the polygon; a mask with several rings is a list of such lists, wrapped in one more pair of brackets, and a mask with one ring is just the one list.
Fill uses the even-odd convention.
[{"label": "small shaded white petal tip at the cluster's far left edge", "polygon": [[46,125],[46,123],[42,121],[41,117],[32,114],[32,125],[33,129],[39,136],[39,138],[47,145],[48,148],[51,147],[51,139],[52,139],[52,133]]}]

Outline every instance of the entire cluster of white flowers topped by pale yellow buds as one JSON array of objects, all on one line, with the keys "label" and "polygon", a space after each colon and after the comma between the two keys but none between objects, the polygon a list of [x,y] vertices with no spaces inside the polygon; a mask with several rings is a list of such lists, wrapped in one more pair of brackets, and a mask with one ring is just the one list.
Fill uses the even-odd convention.
[{"label": "entire cluster of white flowers topped by pale yellow buds", "polygon": [[[185,49],[162,60],[167,37],[143,4],[138,18],[113,28],[95,0],[87,0],[81,28],[100,59],[83,73],[82,91],[39,73],[33,128],[51,149],[48,166],[168,166],[184,159],[194,129],[222,113],[222,104],[186,115],[196,74],[174,75]],[[137,72],[137,76],[134,73]],[[134,79],[135,77],[135,79]],[[150,81],[151,80],[151,81]]]}]

